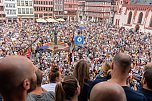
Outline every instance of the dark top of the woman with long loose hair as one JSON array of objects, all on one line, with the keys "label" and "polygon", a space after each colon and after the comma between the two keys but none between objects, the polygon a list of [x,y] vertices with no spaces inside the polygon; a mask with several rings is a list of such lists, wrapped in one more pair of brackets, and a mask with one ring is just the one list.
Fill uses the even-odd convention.
[{"label": "dark top of the woman with long loose hair", "polygon": [[83,88],[81,89],[80,95],[78,97],[78,101],[88,101],[90,90],[91,90],[92,81],[88,81],[84,84]]}]

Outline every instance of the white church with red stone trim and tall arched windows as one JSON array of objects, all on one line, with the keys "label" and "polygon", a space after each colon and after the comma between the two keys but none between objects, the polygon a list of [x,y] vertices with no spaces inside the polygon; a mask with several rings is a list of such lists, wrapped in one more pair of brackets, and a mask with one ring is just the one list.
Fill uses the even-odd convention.
[{"label": "white church with red stone trim and tall arched windows", "polygon": [[150,2],[129,1],[126,3],[124,0],[119,0],[117,5],[114,25],[128,29],[139,26],[139,31],[152,32],[152,4]]}]

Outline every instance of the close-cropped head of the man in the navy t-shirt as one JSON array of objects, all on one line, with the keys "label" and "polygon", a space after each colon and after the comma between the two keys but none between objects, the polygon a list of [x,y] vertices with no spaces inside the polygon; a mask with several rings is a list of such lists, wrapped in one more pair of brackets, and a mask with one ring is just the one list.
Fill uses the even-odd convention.
[{"label": "close-cropped head of the man in the navy t-shirt", "polygon": [[128,77],[129,72],[131,70],[131,58],[129,55],[125,53],[118,53],[113,58],[112,63],[112,76],[125,76]]}]

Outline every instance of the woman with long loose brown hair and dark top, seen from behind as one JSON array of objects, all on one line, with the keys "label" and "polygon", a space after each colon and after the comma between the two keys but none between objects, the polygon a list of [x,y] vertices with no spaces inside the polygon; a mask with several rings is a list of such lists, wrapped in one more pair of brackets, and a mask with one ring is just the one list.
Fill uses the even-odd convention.
[{"label": "woman with long loose brown hair and dark top, seen from behind", "polygon": [[75,65],[74,76],[79,81],[81,87],[81,93],[78,101],[88,101],[91,90],[91,81],[89,75],[89,63],[85,60],[80,60]]}]

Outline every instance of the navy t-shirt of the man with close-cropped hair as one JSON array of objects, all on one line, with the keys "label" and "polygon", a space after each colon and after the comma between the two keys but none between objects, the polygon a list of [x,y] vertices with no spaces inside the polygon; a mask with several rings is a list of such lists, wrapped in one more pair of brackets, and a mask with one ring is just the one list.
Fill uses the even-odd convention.
[{"label": "navy t-shirt of the man with close-cropped hair", "polygon": [[143,94],[140,94],[127,86],[122,86],[126,93],[127,101],[147,101]]}]

